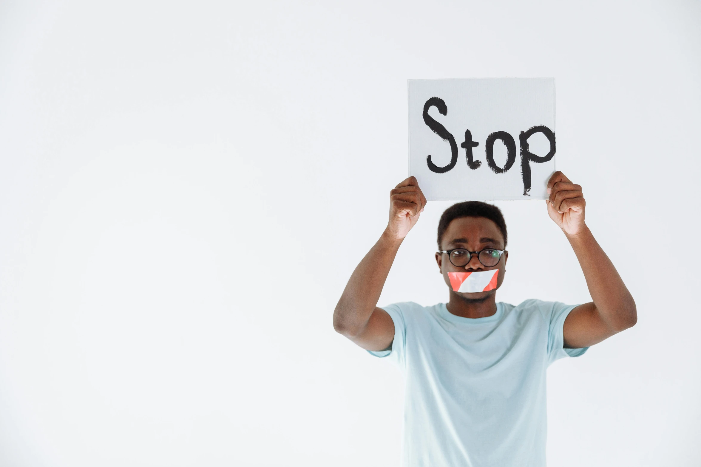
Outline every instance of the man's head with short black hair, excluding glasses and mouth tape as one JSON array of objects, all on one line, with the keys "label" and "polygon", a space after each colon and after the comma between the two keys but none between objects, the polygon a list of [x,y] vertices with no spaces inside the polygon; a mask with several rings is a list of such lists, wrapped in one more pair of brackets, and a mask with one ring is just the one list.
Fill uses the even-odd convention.
[{"label": "man's head with short black hair, excluding glasses and mouth tape", "polygon": [[[498,207],[479,201],[466,201],[453,204],[446,209],[438,223],[438,250],[466,249],[482,251],[484,249],[503,250],[506,248],[506,223]],[[494,253],[496,255],[498,253]],[[472,255],[469,262],[463,266],[451,263],[448,253],[436,253],[436,262],[443,274],[446,284],[450,286],[448,272],[474,272],[498,269],[497,287],[504,280],[504,272],[508,252],[504,251],[496,265],[485,266],[478,256]],[[459,264],[459,263],[458,263]],[[496,289],[479,293],[456,293],[458,297],[468,302],[483,302]]]}]

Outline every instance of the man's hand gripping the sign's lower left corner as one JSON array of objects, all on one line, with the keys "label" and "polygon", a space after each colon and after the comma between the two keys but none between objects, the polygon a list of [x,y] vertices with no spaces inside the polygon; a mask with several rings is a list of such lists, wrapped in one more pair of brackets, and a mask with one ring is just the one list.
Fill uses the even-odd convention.
[{"label": "man's hand gripping the sign's lower left corner", "polygon": [[426,206],[426,197],[418,188],[416,177],[410,176],[390,191],[390,221],[387,232],[395,239],[403,239],[409,233],[423,207]]}]

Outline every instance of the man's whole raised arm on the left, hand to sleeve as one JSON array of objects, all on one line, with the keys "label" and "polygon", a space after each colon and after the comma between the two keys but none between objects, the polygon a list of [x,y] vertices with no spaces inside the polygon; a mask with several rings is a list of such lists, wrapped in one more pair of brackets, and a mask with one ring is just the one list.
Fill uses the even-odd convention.
[{"label": "man's whole raised arm on the left, hand to sleeve", "polygon": [[334,309],[334,329],[363,349],[385,350],[394,339],[390,315],[376,307],[399,246],[414,227],[426,197],[414,176],[390,192],[390,219],[380,239],[362,258]]}]

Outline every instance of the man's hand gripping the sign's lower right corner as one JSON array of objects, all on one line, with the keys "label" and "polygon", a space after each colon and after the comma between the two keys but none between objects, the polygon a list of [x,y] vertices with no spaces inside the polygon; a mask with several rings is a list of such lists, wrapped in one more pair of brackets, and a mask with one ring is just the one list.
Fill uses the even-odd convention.
[{"label": "man's hand gripping the sign's lower right corner", "polygon": [[575,185],[562,172],[555,172],[547,182],[547,193],[550,198],[545,200],[547,214],[557,226],[568,235],[577,235],[585,228],[585,200],[582,187]]}]

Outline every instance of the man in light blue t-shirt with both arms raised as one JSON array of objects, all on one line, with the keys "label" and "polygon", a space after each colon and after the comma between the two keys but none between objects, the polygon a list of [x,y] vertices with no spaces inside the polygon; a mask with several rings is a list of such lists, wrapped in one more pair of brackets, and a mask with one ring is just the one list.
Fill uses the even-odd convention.
[{"label": "man in light blue t-shirt with both arms raised", "polygon": [[[376,307],[402,240],[426,198],[411,176],[390,192],[390,219],[351,275],[334,328],[375,356],[393,356],[406,376],[405,466],[545,466],[545,370],[557,358],[634,326],[635,302],[584,222],[582,188],[562,172],[547,183],[547,214],[579,260],[592,302],[496,302],[496,289],[459,292],[449,272],[498,269],[508,251],[501,211],[483,202],[447,209],[435,258],[447,304]],[[552,262],[547,251],[533,260]]]}]

